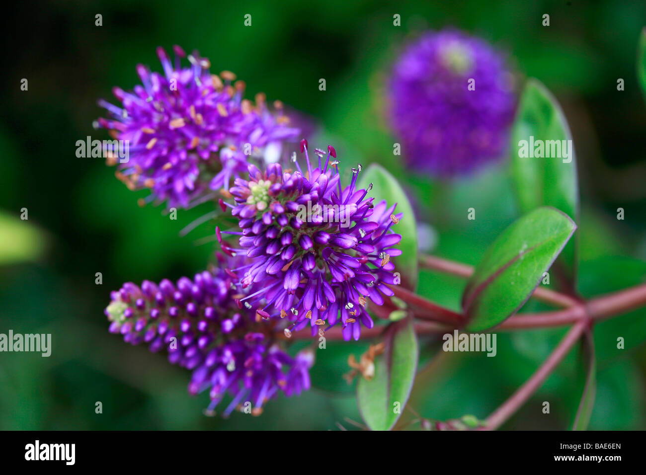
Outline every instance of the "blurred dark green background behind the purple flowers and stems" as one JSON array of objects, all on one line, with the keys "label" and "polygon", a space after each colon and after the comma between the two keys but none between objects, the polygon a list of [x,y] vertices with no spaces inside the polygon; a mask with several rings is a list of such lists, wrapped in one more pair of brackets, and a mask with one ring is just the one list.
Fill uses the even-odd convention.
[{"label": "blurred dark green background behind the purple flowers and stems", "polygon": [[[508,55],[518,85],[534,76],[556,94],[570,123],[581,186],[579,290],[597,295],[646,279],[646,103],[636,79],[643,1],[301,0],[213,2],[34,1],[6,12],[0,118],[0,332],[52,333],[52,355],[0,354],[1,429],[337,429],[360,421],[347,344],[318,352],[316,388],[269,403],[261,417],[205,417],[189,373],[161,354],[107,332],[103,308],[122,282],[193,275],[213,253],[209,225],[179,231],[206,208],[169,220],[137,198],[101,159],[76,158],[94,131],[97,98],[138,83],[137,63],[159,70],[155,48],[182,45],[317,121],[314,146],[340,160],[379,162],[410,190],[430,224],[429,251],[475,264],[517,217],[506,161],[439,183],[404,168],[384,127],[384,78],[406,41],[428,28],[461,28]],[[550,14],[550,26],[541,16]],[[103,26],[95,26],[95,15]],[[245,27],[244,15],[252,15]],[[401,26],[393,26],[393,14]],[[28,79],[28,91],[20,80]],[[327,90],[318,90],[325,78]],[[625,90],[616,80],[625,79]],[[478,205],[475,221],[464,217]],[[19,220],[28,209],[28,221]],[[625,220],[616,209],[625,209]],[[95,284],[95,274],[103,284]],[[420,291],[457,308],[463,280],[422,273]],[[646,427],[646,348],[620,352],[616,335],[646,337],[646,311],[599,326],[594,429]],[[424,417],[486,417],[523,383],[563,330],[498,335],[498,354],[424,350],[410,405]],[[630,345],[629,345],[630,346]],[[350,352],[359,355],[365,346]],[[323,354],[323,355],[322,355]],[[504,428],[568,428],[580,397],[572,352]],[[103,414],[95,403],[103,403]],[[550,401],[552,413],[541,414]],[[402,420],[412,417],[406,414]],[[412,426],[415,428],[415,426]]]}]

